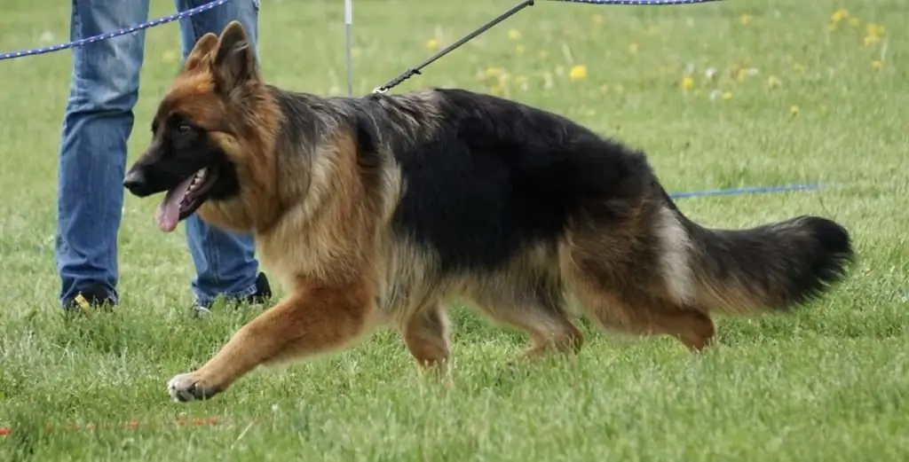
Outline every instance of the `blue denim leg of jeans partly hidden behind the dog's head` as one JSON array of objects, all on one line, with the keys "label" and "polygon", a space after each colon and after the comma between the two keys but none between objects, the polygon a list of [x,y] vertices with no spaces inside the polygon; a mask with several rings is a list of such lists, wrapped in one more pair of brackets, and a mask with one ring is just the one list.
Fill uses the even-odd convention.
[{"label": "blue denim leg of jeans partly hidden behind the dog's head", "polygon": [[[175,0],[180,11],[203,5],[209,0]],[[208,32],[220,34],[233,20],[243,24],[255,50],[258,35],[258,0],[232,0],[204,13],[180,20],[183,57],[196,40]],[[242,297],[255,293],[259,263],[255,260],[253,238],[222,231],[200,220],[195,214],[185,220],[186,241],[195,263],[192,287],[196,303],[207,307],[218,295]]]}]

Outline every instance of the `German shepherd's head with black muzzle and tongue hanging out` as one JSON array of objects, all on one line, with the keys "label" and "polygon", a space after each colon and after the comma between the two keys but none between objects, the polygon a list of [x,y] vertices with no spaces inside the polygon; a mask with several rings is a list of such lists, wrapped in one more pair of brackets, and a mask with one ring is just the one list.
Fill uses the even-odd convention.
[{"label": "German shepherd's head with black muzzle and tongue hanging out", "polygon": [[196,42],[158,106],[151,145],[124,180],[137,197],[166,192],[155,214],[162,231],[174,231],[205,202],[240,194],[245,175],[238,170],[250,162],[245,143],[255,133],[251,113],[262,86],[238,22]]}]

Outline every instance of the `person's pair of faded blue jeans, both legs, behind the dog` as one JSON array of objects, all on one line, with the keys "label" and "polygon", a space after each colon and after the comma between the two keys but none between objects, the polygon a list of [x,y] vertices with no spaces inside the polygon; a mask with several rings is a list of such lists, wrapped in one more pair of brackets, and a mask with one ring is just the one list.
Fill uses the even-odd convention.
[{"label": "person's pair of faded blue jeans, both legs, behind the dog", "polygon": [[[143,23],[150,0],[72,0],[72,40]],[[209,0],[175,0],[177,9]],[[255,49],[258,0],[232,0],[180,20],[183,57],[206,32],[239,20]],[[145,31],[73,49],[73,74],[60,144],[55,258],[60,300],[100,284],[116,303],[117,231],[122,218],[126,140],[133,130]],[[251,236],[220,231],[195,215],[185,221],[195,263],[196,303],[255,293],[258,261]]]}]

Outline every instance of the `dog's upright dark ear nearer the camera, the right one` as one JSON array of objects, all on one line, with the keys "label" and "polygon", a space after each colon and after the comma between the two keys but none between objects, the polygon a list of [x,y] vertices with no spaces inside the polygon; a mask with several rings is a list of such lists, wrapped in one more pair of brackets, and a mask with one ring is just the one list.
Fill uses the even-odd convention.
[{"label": "dog's upright dark ear nearer the camera, the right one", "polygon": [[225,93],[258,77],[253,46],[238,21],[231,21],[218,37],[212,73],[218,88]]}]

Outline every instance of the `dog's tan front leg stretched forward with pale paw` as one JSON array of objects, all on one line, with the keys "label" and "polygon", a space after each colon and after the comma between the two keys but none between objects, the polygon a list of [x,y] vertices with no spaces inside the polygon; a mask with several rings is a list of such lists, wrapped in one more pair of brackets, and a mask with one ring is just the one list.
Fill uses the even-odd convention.
[{"label": "dog's tan front leg stretched forward with pale paw", "polygon": [[300,359],[350,345],[375,311],[371,284],[303,283],[242,329],[194,372],[172,378],[175,401],[212,398],[259,365]]}]

